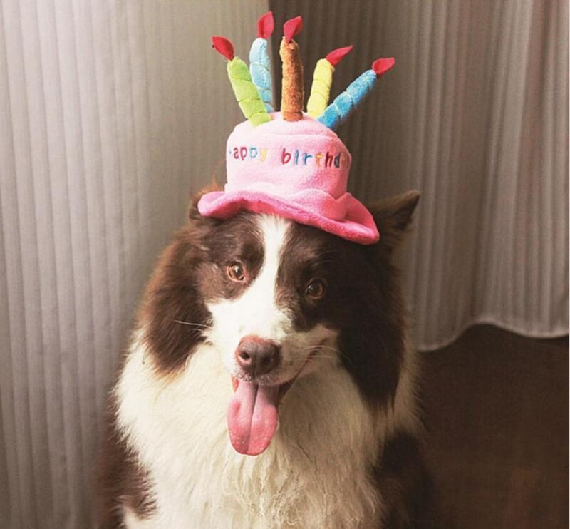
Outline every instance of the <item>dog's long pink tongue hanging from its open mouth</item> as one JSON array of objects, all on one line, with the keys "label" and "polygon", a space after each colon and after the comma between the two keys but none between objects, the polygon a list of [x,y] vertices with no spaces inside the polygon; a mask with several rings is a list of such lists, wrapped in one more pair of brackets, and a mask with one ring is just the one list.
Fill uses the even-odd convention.
[{"label": "dog's long pink tongue hanging from its open mouth", "polygon": [[239,381],[227,411],[229,440],[239,453],[257,456],[269,446],[277,426],[278,396],[279,386]]}]

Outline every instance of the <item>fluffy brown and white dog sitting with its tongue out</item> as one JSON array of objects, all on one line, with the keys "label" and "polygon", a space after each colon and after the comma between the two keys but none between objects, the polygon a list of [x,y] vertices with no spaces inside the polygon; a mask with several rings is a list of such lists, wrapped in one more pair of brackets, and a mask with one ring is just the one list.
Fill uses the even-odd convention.
[{"label": "fluffy brown and white dog sitting with its tongue out", "polygon": [[371,246],[192,205],[111,396],[101,528],[432,527],[391,262],[418,198],[371,208]]}]

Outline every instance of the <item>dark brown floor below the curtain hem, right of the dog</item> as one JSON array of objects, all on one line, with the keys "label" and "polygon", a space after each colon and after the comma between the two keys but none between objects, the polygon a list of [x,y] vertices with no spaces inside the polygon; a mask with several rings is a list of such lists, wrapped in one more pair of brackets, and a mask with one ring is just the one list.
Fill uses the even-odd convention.
[{"label": "dark brown floor below the curtain hem, right of the dog", "polygon": [[568,338],[481,325],[423,358],[442,527],[568,528]]}]

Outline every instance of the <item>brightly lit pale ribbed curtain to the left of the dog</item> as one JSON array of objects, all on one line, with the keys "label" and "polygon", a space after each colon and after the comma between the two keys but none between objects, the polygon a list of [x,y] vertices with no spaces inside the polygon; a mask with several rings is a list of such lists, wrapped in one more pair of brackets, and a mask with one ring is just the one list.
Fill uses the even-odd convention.
[{"label": "brightly lit pale ribbed curtain to the left of the dog", "polygon": [[210,35],[246,51],[266,9],[0,1],[1,528],[90,526],[138,296],[240,120]]}]

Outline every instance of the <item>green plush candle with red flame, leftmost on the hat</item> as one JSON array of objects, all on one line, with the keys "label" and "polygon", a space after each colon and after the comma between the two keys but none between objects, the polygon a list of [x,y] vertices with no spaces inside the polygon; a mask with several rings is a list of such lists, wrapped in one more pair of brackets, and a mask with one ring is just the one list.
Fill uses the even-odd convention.
[{"label": "green plush candle with red flame, leftmost on the hat", "polygon": [[244,116],[254,127],[271,121],[264,102],[259,96],[257,86],[252,82],[249,69],[241,58],[234,56],[234,46],[229,39],[221,36],[212,37],[212,45],[227,58],[227,75]]}]

